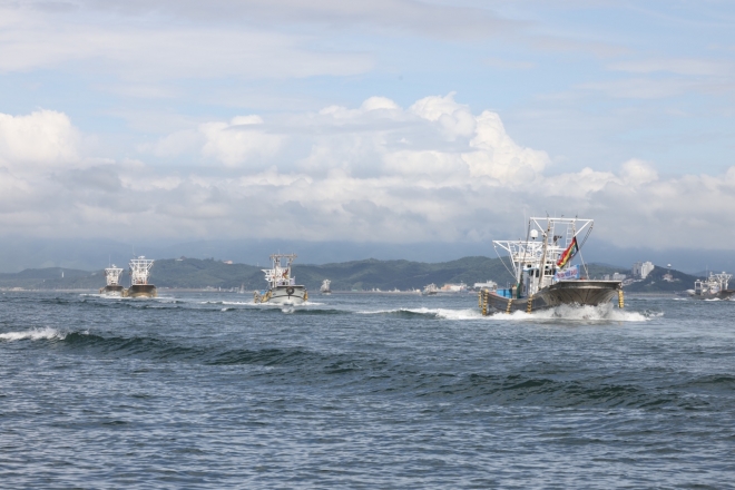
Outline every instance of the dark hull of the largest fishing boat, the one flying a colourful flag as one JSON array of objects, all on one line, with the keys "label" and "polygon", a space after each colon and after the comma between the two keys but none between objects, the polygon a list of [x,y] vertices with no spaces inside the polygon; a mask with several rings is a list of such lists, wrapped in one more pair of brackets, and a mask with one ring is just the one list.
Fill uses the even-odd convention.
[{"label": "dark hull of the largest fishing boat, the one flying a colourful flag", "polygon": [[[560,305],[598,306],[619,295],[619,281],[562,281],[539,291],[532,297],[509,298],[484,292],[487,312],[535,312]],[[620,305],[621,305],[620,300]]]}]

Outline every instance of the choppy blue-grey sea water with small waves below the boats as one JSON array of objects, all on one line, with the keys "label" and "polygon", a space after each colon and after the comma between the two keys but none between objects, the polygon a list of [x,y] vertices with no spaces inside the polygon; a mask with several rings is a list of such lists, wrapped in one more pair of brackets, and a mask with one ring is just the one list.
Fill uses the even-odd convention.
[{"label": "choppy blue-grey sea water with small waves below the boats", "polygon": [[735,302],[0,295],[2,488],[732,488]]}]

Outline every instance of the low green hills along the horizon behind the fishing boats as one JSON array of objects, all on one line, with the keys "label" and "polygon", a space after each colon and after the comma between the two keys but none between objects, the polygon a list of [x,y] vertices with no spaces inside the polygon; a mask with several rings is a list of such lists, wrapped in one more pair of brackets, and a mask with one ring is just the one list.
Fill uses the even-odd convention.
[{"label": "low green hills along the horizon behind the fishing boats", "polygon": [[[590,278],[601,278],[605,274],[630,271],[605,264],[588,264]],[[644,282],[626,286],[630,292],[675,292],[693,287],[695,277],[672,271],[675,282],[663,281],[667,270],[656,267]],[[441,263],[423,263],[410,261],[352,261],[334,264],[310,265],[294,264],[293,274],[298,284],[304,284],[310,291],[317,291],[322,281],[332,281],[333,291],[372,290],[401,291],[422,288],[434,283],[441,286],[445,283],[474,283],[494,281],[506,286],[512,281],[499,258],[482,256],[464,257]],[[63,275],[63,277],[62,277]],[[124,275],[122,284],[127,285],[129,276]],[[213,258],[166,258],[156,261],[150,275],[150,282],[158,287],[205,288],[222,287],[228,290],[244,286],[247,291],[262,290],[266,286],[261,267],[246,264],[226,264]],[[105,285],[104,271],[79,271],[72,268],[35,268],[20,273],[0,274],[0,287],[22,287],[33,290],[97,290]]]}]

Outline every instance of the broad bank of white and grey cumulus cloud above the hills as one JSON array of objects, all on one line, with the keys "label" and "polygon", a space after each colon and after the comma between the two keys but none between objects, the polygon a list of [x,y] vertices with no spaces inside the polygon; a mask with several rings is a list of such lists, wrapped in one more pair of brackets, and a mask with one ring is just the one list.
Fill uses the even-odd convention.
[{"label": "broad bank of white and grey cumulus cloud above the hills", "polygon": [[[139,160],[2,170],[0,226],[76,236],[452,242],[512,237],[523,215],[549,212],[592,217],[596,238],[619,246],[722,247],[735,238],[735,167],[663,178],[634,158],[615,171],[549,175],[545,151],[518,145],[498,114],[474,115],[451,95],[408,109],[370,98],[354,109],[246,115],[188,131],[196,144],[187,151],[206,161],[186,173]],[[150,151],[180,151],[185,136]]]}]

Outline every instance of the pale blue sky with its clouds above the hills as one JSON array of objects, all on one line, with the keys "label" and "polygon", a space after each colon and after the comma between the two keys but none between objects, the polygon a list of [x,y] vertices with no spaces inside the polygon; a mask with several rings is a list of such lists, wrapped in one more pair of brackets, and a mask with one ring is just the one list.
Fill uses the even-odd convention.
[{"label": "pale blue sky with its clouds above the hills", "polygon": [[0,0],[0,236],[735,248],[735,1]]}]

